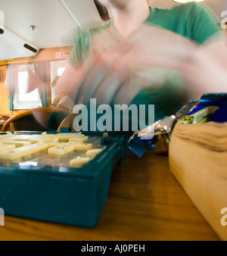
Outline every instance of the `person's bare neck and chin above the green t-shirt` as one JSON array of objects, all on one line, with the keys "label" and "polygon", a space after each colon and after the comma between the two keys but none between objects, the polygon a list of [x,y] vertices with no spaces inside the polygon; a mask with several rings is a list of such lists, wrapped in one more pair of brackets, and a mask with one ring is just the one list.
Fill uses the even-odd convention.
[{"label": "person's bare neck and chin above the green t-shirt", "polygon": [[[138,4],[139,3],[139,4]],[[123,38],[127,38],[147,20],[150,8],[146,2],[133,2],[123,8],[112,8],[113,26]]]}]

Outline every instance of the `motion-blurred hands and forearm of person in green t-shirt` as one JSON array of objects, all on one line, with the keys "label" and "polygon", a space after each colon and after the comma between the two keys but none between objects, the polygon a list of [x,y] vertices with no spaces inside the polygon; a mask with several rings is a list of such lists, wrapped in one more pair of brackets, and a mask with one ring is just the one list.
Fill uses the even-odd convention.
[{"label": "motion-blurred hands and forearm of person in green t-shirt", "polygon": [[[89,58],[79,70],[67,67],[56,89],[73,94],[76,102],[96,98],[98,104],[129,104],[142,89],[162,87],[174,70],[194,98],[226,92],[226,61],[219,61],[217,48],[218,44],[200,46],[160,27],[143,25],[121,40],[110,28],[94,36]],[[226,60],[226,48],[222,55]]]}]

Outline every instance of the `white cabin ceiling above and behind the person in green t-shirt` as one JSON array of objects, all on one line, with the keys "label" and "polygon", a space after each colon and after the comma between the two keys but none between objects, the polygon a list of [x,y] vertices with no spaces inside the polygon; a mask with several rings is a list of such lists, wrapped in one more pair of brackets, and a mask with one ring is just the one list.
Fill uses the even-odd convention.
[{"label": "white cabin ceiling above and behind the person in green t-shirt", "polygon": [[[171,0],[151,0],[151,5],[158,8],[171,8],[176,3]],[[226,0],[204,1],[216,15],[221,17],[227,11]],[[63,4],[66,5],[63,5]],[[101,18],[94,0],[0,0],[3,11],[4,27],[22,37],[37,48],[52,48],[64,45],[61,36],[75,29],[80,30],[86,23]],[[0,18],[0,25],[1,25]],[[30,26],[36,26],[32,30]],[[0,50],[1,51],[1,50]]]}]

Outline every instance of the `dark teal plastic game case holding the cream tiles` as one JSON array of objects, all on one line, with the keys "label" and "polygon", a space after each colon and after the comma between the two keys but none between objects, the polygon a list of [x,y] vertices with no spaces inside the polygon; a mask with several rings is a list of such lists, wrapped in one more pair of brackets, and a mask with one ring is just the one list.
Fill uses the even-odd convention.
[{"label": "dark teal plastic game case holding the cream tiles", "polygon": [[101,139],[106,148],[82,168],[0,164],[1,208],[9,216],[95,227],[113,169],[126,154],[127,140],[120,134]]}]

